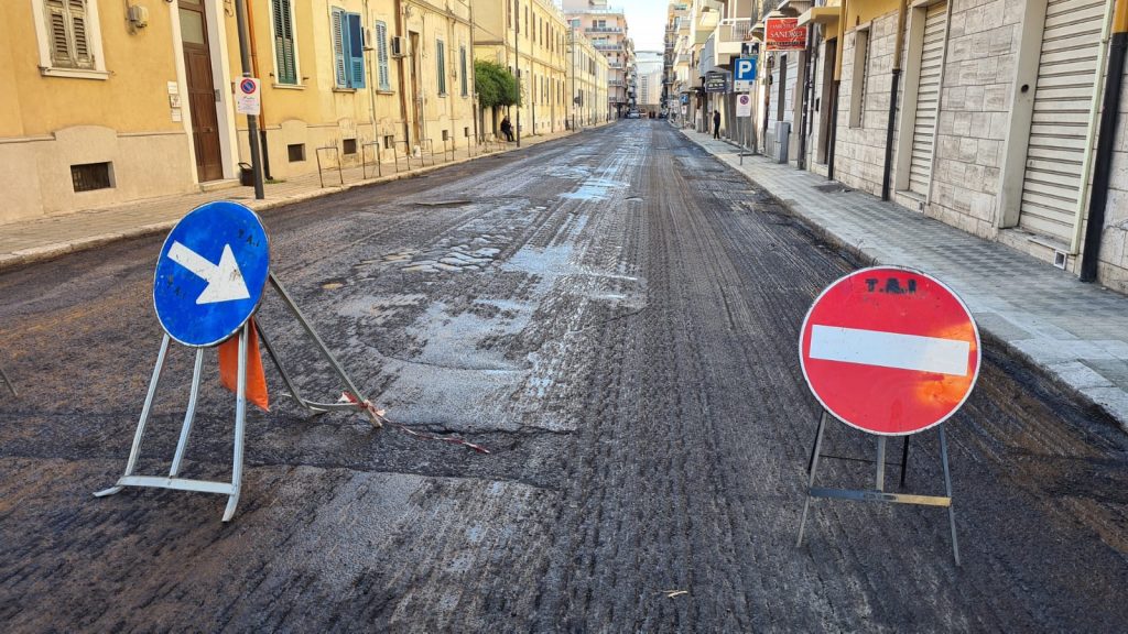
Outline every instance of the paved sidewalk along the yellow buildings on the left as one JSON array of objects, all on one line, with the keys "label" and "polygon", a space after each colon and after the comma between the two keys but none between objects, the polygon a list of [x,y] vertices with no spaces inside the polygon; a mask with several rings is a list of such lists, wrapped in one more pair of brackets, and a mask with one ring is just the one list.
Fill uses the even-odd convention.
[{"label": "paved sidewalk along the yellow buildings on the left", "polygon": [[[521,147],[536,146],[571,134],[572,132],[557,132],[531,138],[525,137],[521,139]],[[517,146],[510,143],[503,151],[515,149]],[[494,151],[486,155],[475,150],[474,156],[467,158],[467,151],[465,147],[458,148],[455,151],[455,159],[450,160],[448,153],[446,161],[442,153],[439,153],[434,157],[434,166],[431,165],[431,157],[424,156],[425,167],[421,166],[418,158],[412,158],[409,170],[406,168],[404,157],[399,157],[398,174],[395,162],[386,159],[381,164],[382,177],[373,176],[374,165],[368,166],[369,178],[363,178],[361,167],[346,167],[342,170],[341,176],[337,175],[336,168],[325,169],[321,174],[325,187],[321,187],[317,171],[314,171],[282,183],[265,185],[266,197],[261,201],[255,200],[252,187],[235,186],[211,192],[147,199],[106,209],[0,224],[0,271],[52,259],[71,252],[95,248],[124,238],[161,234],[171,229],[176,221],[188,211],[211,201],[238,201],[257,212],[262,212],[300,201],[328,196],[362,185],[411,178],[446,166],[467,162],[481,156],[499,153]],[[341,185],[342,177],[344,185]]]}]

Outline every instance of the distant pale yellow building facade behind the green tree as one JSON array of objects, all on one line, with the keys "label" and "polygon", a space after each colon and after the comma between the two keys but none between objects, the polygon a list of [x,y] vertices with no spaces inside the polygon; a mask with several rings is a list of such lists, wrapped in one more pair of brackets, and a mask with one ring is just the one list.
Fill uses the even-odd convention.
[{"label": "distant pale yellow building facade behind the green tree", "polygon": [[[475,0],[474,24],[475,59],[496,62],[518,77],[521,106],[509,114],[520,133],[565,130],[571,115],[569,26],[561,10],[550,0]],[[485,132],[497,134],[488,115]]]}]

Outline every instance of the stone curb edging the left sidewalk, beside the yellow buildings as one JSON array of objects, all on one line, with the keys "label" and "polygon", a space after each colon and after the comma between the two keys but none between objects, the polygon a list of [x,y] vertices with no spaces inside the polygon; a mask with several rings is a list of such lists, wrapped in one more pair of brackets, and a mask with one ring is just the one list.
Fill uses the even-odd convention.
[{"label": "stone curb edging the left sidewalk, beside the yellow buildings", "polygon": [[[588,127],[585,130],[597,130],[599,127],[603,127],[605,125],[609,125],[609,124],[605,123],[602,125],[597,125],[594,127]],[[581,131],[581,132],[583,132],[583,131]],[[521,150],[526,150],[528,148],[532,148],[532,147],[539,146],[541,143],[550,143],[553,141],[557,141],[557,140],[561,140],[561,139],[567,139],[567,138],[573,137],[575,134],[578,134],[578,133],[576,132],[570,132],[567,134],[563,134],[563,135],[557,137],[555,139],[547,139],[545,141],[537,141],[536,143],[526,144],[526,146],[520,147],[520,148],[515,148],[515,147],[514,148],[506,148],[505,150],[502,150],[500,152],[481,153],[481,155],[477,155],[477,156],[474,156],[474,157],[457,158],[457,159],[453,159],[453,160],[450,160],[450,161],[447,161],[447,162],[441,162],[441,164],[430,165],[430,166],[423,166],[423,167],[420,167],[420,168],[416,168],[416,169],[409,170],[409,171],[400,171],[400,173],[397,173],[397,174],[389,174],[387,176],[380,176],[380,177],[377,177],[377,178],[368,178],[368,179],[364,179],[364,180],[356,180],[354,183],[345,183],[344,185],[335,185],[335,186],[329,186],[329,187],[323,187],[323,188],[314,190],[314,191],[310,191],[310,192],[301,192],[301,193],[298,193],[298,194],[294,194],[294,195],[291,195],[291,196],[287,196],[284,199],[279,199],[279,200],[272,200],[272,201],[244,201],[244,204],[246,204],[248,208],[250,208],[252,210],[254,210],[256,212],[268,211],[268,210],[277,209],[277,208],[281,208],[281,206],[287,206],[287,205],[297,204],[297,203],[301,203],[301,202],[306,202],[306,201],[311,201],[311,200],[315,200],[315,199],[331,196],[333,194],[340,194],[342,192],[349,192],[349,191],[355,190],[358,187],[368,187],[368,186],[371,186],[371,185],[381,185],[381,184],[385,184],[385,183],[394,183],[396,180],[403,180],[403,179],[406,179],[406,178],[416,178],[416,177],[425,176],[428,174],[431,174],[432,171],[437,171],[439,169],[443,169],[443,168],[447,168],[447,167],[451,167],[451,166],[456,166],[456,165],[462,165],[462,164],[466,164],[466,162],[478,160],[481,158],[497,157],[497,156],[508,155],[510,152],[518,152],[518,151],[521,151]],[[82,212],[77,212],[77,213],[82,213]],[[155,223],[151,223],[151,224],[144,224],[144,226],[136,227],[136,228],[133,228],[133,229],[129,229],[129,230],[125,230],[125,231],[114,231],[114,232],[108,232],[108,234],[99,234],[97,236],[89,236],[89,237],[85,237],[85,238],[80,238],[80,239],[76,239],[76,240],[70,240],[70,241],[67,241],[67,243],[56,243],[56,244],[51,244],[51,245],[32,247],[32,248],[26,248],[26,249],[20,249],[20,250],[17,250],[17,252],[12,252],[11,254],[0,255],[0,273],[7,272],[7,271],[11,271],[14,268],[19,268],[19,267],[23,267],[23,266],[28,266],[30,264],[36,264],[36,263],[39,263],[39,262],[47,262],[47,261],[51,261],[51,259],[56,259],[56,258],[62,257],[62,256],[68,255],[68,254],[79,253],[79,252],[83,252],[83,250],[90,250],[90,249],[94,249],[94,248],[97,248],[97,247],[100,247],[100,246],[105,246],[105,245],[108,245],[108,244],[112,244],[112,243],[116,243],[116,241],[120,241],[120,240],[129,240],[129,239],[132,239],[132,238],[141,238],[141,237],[146,237],[146,236],[151,236],[153,234],[164,234],[166,231],[169,231],[173,227],[175,227],[178,221],[179,220],[177,219],[177,220],[167,220],[167,221],[162,221],[162,222],[155,222]]]}]

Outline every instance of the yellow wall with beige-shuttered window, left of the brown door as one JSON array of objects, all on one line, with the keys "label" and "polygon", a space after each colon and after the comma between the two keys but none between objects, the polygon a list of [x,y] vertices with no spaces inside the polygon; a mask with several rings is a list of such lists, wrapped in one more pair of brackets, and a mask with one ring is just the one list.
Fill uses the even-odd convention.
[{"label": "yellow wall with beige-shuttered window, left of the brown door", "polygon": [[[194,187],[178,12],[107,0],[0,2],[0,222]],[[140,16],[139,16],[140,17]]]}]

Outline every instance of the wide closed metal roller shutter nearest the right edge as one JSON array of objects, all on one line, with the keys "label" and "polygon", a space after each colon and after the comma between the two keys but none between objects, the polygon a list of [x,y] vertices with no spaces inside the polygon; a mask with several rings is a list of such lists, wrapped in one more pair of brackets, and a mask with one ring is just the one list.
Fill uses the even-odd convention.
[{"label": "wide closed metal roller shutter nearest the right edge", "polygon": [[1050,0],[1019,226],[1068,244],[1084,179],[1104,0]]}]

